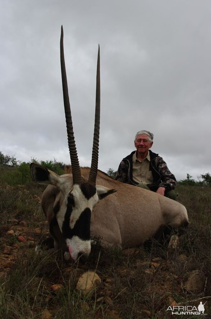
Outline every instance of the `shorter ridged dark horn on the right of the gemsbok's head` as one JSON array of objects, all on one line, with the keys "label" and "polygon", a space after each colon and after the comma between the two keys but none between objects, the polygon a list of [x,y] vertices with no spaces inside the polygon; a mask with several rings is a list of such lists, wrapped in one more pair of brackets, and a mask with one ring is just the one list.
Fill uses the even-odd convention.
[{"label": "shorter ridged dark horn on the right of the gemsbok's head", "polygon": [[88,182],[93,185],[96,185],[96,178],[98,173],[99,131],[100,131],[100,47],[98,46],[94,138],[93,138],[93,147],[92,147],[92,163],[91,163],[91,169],[90,169],[89,180],[88,180]]}]

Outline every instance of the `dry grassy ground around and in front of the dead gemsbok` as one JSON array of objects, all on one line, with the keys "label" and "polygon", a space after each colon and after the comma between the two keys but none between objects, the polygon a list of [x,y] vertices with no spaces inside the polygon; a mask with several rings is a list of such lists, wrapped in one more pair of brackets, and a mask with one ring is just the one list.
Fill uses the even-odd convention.
[{"label": "dry grassy ground around and in front of the dead gemsbok", "polygon": [[[128,251],[105,250],[100,249],[97,240],[85,265],[65,263],[48,251],[37,255],[33,243],[20,244],[17,235],[7,237],[11,228],[27,240],[38,241],[47,236],[39,203],[44,187],[32,182],[18,186],[13,182],[9,186],[2,183],[0,188],[1,319],[164,319],[171,318],[166,310],[172,300],[197,307],[200,302],[193,300],[211,296],[210,188],[178,186],[179,200],[187,208],[190,224],[180,237],[177,250],[169,251],[157,242],[148,251],[144,246]],[[27,227],[21,228],[12,219],[26,221]],[[10,254],[3,254],[5,244],[11,247]],[[20,246],[18,250],[14,244]],[[160,257],[157,268],[150,264],[155,257]],[[4,267],[8,261],[12,267]],[[206,278],[199,294],[184,287],[188,274],[196,269],[203,271]],[[88,270],[96,271],[102,282],[92,296],[83,300],[75,286],[79,276]],[[63,288],[53,293],[53,284]],[[209,318],[211,300],[204,299],[203,303],[206,300]]]}]

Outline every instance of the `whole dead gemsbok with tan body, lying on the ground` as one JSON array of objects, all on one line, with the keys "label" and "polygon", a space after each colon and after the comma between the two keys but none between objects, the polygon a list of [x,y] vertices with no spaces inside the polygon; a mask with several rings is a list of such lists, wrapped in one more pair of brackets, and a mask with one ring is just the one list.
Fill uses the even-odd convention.
[{"label": "whole dead gemsbok with tan body, lying on the ground", "polygon": [[[187,226],[187,211],[180,203],[146,189],[117,182],[97,169],[99,51],[92,163],[91,168],[79,167],[65,71],[63,29],[60,54],[71,174],[58,176],[41,165],[31,163],[32,179],[37,183],[50,184],[43,193],[42,209],[49,223],[54,248],[62,249],[73,261],[78,257],[85,261],[91,251],[91,236],[100,237],[101,245],[105,247],[118,245],[128,248],[140,245],[165,227],[176,229]],[[112,196],[107,197],[110,194]]]}]

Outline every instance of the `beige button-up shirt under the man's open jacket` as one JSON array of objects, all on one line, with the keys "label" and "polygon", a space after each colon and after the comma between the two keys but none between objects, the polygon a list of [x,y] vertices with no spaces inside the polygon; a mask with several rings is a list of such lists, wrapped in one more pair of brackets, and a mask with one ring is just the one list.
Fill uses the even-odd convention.
[{"label": "beige button-up shirt under the man's open jacket", "polygon": [[133,181],[135,184],[153,184],[153,174],[149,169],[150,154],[141,162],[136,158],[136,152],[133,154]]}]

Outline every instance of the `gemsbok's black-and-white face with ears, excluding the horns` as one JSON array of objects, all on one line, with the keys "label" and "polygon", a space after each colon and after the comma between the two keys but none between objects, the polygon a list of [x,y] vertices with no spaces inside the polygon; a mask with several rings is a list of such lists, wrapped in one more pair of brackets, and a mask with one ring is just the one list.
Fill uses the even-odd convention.
[{"label": "gemsbok's black-and-white face with ears, excluding the horns", "polygon": [[[53,216],[47,216],[51,220],[49,227],[55,248],[59,249],[57,245],[59,234],[54,231],[54,226],[58,224],[70,258],[76,261],[78,257],[81,257],[81,260],[85,261],[91,251],[92,210],[99,199],[103,199],[116,190],[99,185],[94,186],[88,182],[73,184],[71,174],[59,176],[35,163],[31,163],[31,176],[37,183],[50,184],[58,189],[51,210]],[[65,256],[68,259],[68,256]]]}]

